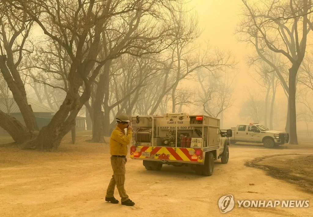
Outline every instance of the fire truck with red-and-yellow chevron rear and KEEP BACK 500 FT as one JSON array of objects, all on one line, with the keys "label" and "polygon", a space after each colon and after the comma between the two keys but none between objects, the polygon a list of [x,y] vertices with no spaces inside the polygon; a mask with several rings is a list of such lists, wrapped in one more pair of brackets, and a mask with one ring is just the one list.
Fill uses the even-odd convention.
[{"label": "fire truck with red-and-yellow chevron rear and KEEP BACK 500 FT", "polygon": [[130,157],[142,160],[147,170],[185,165],[197,175],[211,176],[215,160],[228,162],[232,130],[220,130],[219,119],[187,113],[130,118],[134,129]]}]

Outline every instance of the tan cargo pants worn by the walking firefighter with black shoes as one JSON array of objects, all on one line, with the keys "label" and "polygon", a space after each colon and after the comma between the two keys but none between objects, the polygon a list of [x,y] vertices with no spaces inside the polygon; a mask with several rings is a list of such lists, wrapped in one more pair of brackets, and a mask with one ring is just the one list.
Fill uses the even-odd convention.
[{"label": "tan cargo pants worn by the walking firefighter with black shoes", "polygon": [[118,193],[120,194],[121,201],[128,200],[128,195],[126,194],[124,183],[125,183],[125,163],[126,160],[123,157],[111,156],[111,166],[113,169],[113,175],[110,180],[108,189],[106,190],[105,197],[114,197],[115,185],[117,187]]}]

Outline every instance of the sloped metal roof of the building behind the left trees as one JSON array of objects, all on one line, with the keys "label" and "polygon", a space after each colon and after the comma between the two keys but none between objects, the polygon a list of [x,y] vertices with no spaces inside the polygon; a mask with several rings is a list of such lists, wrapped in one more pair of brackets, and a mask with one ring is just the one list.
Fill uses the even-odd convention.
[{"label": "sloped metal roof of the building behind the left trees", "polygon": [[[35,113],[54,113],[54,111],[51,110],[48,106],[45,106],[44,104],[39,103],[38,101],[32,98],[28,98],[27,101],[28,104],[31,105],[33,112]],[[8,107],[10,113],[21,113],[14,98],[8,98]],[[4,113],[8,113],[7,105],[3,98],[0,98],[0,110],[3,111]]]}]

